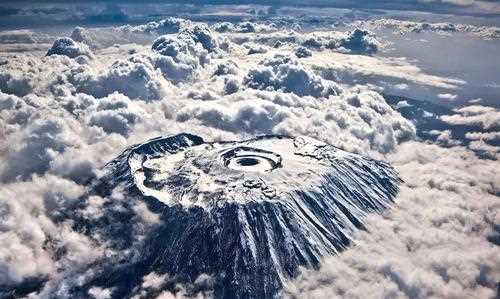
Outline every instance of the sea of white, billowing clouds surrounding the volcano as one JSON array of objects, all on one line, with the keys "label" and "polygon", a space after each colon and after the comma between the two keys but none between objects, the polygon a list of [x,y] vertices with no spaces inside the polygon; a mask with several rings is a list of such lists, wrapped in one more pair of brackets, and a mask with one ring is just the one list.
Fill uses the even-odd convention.
[{"label": "sea of white, billowing clouds surrounding the volcano", "polygon": [[[158,216],[144,204],[127,207],[120,194],[89,196],[86,186],[127,146],[179,132],[206,140],[306,135],[384,159],[400,172],[394,208],[370,216],[352,248],[304,269],[283,296],[495,297],[500,110],[475,103],[441,117],[487,130],[467,133],[467,147],[450,142],[446,131],[425,142],[386,102],[384,85],[364,79],[450,90],[465,81],[426,73],[411,59],[378,56],[384,41],[362,27],[278,27],[168,18],[77,27],[65,37],[0,32],[0,297],[71,297],[68,290],[88,284],[100,261],[119,258],[113,240],[83,229],[75,215],[92,221],[104,209],[127,208],[134,242],[141,242]],[[453,32],[447,28],[436,30]],[[484,29],[467,28],[460,30]],[[487,38],[496,38],[491,31]],[[127,246],[133,252],[134,243]],[[210,283],[202,276],[178,285],[176,294],[162,292],[169,279],[150,273],[136,298],[183,297]],[[111,298],[113,289],[96,285],[88,295]]]}]

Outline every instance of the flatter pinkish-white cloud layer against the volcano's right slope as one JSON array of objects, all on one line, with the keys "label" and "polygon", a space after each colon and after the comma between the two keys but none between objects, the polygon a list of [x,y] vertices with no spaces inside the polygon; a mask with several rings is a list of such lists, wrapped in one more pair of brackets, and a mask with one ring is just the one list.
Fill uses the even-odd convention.
[{"label": "flatter pinkish-white cloud layer against the volcano's right slope", "polygon": [[285,294],[495,297],[500,260],[488,236],[498,225],[498,163],[414,142],[389,160],[407,183],[396,209],[374,217],[354,248],[305,271]]}]

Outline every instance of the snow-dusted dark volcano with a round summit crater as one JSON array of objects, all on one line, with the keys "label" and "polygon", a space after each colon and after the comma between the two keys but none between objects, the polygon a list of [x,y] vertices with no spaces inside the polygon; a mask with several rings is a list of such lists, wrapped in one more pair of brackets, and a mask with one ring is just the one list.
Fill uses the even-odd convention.
[{"label": "snow-dusted dark volcano with a round summit crater", "polygon": [[385,162],[274,135],[156,138],[123,152],[105,173],[95,190],[120,188],[131,204],[145,201],[161,219],[141,255],[113,273],[117,285],[110,275],[107,285],[120,289],[120,277],[130,282],[131,271],[168,273],[180,282],[208,274],[223,298],[276,295],[299,267],[316,267],[346,248],[368,213],[390,206],[401,182]]}]

